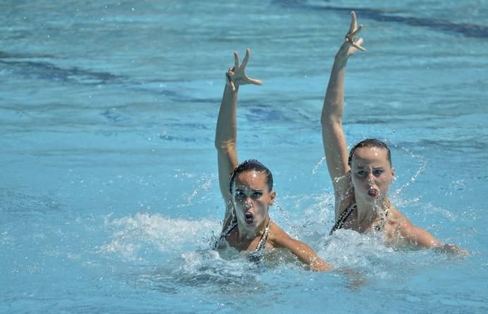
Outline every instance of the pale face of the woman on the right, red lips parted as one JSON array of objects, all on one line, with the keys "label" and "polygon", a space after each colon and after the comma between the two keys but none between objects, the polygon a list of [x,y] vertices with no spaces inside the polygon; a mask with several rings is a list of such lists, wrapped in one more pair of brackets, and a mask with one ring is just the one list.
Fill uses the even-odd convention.
[{"label": "pale face of the woman on the right, red lips parted", "polygon": [[361,147],[356,149],[350,167],[357,198],[365,201],[384,199],[395,177],[387,158],[386,149],[379,147]]}]

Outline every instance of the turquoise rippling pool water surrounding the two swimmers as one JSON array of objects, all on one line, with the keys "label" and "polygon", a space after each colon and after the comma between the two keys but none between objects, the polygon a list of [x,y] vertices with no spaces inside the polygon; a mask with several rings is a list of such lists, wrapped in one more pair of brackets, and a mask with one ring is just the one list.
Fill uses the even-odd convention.
[{"label": "turquoise rippling pool water surrounding the two swimmers", "polygon": [[[468,258],[328,232],[319,114],[348,11],[345,128],[393,146],[394,201]],[[485,313],[484,1],[3,1],[1,313]],[[214,127],[252,49],[240,160],[275,175],[276,220],[358,272],[256,268],[207,250],[224,207]]]}]

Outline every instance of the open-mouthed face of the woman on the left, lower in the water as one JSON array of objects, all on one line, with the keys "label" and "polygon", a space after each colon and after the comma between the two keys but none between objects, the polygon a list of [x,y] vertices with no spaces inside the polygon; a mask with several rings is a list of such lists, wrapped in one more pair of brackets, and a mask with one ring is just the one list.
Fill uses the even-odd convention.
[{"label": "open-mouthed face of the woman on the left, lower in the water", "polygon": [[254,170],[240,172],[233,185],[233,201],[238,221],[250,228],[266,223],[269,206],[276,192],[269,191],[264,173]]}]

